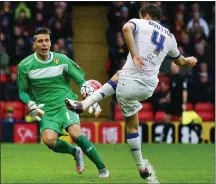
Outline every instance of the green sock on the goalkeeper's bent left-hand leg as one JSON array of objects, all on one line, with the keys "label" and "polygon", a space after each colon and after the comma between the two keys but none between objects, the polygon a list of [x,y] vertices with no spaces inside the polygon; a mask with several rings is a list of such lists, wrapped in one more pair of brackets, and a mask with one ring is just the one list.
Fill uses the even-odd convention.
[{"label": "green sock on the goalkeeper's bent left-hand leg", "polygon": [[76,147],[68,144],[66,141],[63,141],[61,139],[57,139],[56,144],[54,146],[49,146],[50,149],[57,153],[68,153],[71,155],[75,155],[76,153]]}]

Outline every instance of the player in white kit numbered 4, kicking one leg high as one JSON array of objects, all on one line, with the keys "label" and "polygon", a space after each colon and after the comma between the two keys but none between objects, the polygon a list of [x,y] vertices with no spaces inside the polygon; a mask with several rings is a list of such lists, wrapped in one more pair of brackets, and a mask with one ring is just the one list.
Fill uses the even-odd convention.
[{"label": "player in white kit numbered 4, kicking one leg high", "polygon": [[[152,96],[158,84],[158,73],[166,55],[173,58],[179,66],[193,67],[194,57],[181,56],[176,39],[168,29],[160,24],[161,9],[155,4],[142,7],[140,19],[131,19],[123,26],[123,35],[129,54],[122,69],[93,95],[82,102],[66,99],[68,109],[81,113],[95,102],[116,92],[118,103],[125,118],[126,138],[130,152],[138,167],[140,176],[149,179],[149,172],[142,157],[141,142],[138,134],[138,111],[142,108],[139,101]],[[157,183],[156,179],[152,179]]]}]

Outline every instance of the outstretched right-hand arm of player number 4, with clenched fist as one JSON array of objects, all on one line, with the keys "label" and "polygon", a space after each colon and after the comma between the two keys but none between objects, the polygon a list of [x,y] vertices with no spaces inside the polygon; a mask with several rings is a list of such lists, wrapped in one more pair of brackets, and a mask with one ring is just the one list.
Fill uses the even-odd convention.
[{"label": "outstretched right-hand arm of player number 4, with clenched fist", "polygon": [[197,63],[197,59],[195,57],[187,57],[182,56],[177,48],[177,42],[175,37],[172,35],[173,44],[171,46],[171,50],[168,52],[168,55],[173,59],[174,63],[180,67],[194,67]]}]

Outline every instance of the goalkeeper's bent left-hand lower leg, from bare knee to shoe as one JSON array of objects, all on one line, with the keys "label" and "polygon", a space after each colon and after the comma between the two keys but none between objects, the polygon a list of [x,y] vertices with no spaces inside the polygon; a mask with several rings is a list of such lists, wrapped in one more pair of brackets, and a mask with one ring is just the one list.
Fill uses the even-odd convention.
[{"label": "goalkeeper's bent left-hand lower leg, from bare knee to shoe", "polygon": [[56,153],[66,153],[74,156],[77,172],[81,174],[84,169],[83,153],[79,147],[68,144],[64,140],[58,139],[58,133],[52,129],[45,129],[42,132],[44,144]]}]

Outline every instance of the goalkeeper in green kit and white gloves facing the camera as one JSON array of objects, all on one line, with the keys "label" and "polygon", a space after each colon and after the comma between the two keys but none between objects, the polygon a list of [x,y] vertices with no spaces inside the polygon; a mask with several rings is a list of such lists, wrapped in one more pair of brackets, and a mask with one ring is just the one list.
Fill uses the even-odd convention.
[{"label": "goalkeeper in green kit and white gloves facing the camera", "polygon": [[[79,116],[65,106],[65,98],[77,99],[70,86],[72,79],[79,87],[86,81],[83,70],[67,56],[50,52],[50,31],[40,28],[34,33],[35,53],[18,65],[18,87],[21,100],[40,121],[40,133],[45,145],[57,153],[74,156],[77,172],[84,171],[83,152],[96,165],[100,178],[109,177],[94,145],[81,133]],[[94,105],[95,114],[101,109]],[[66,129],[79,147],[58,139]],[[83,152],[82,152],[83,151]]]}]

